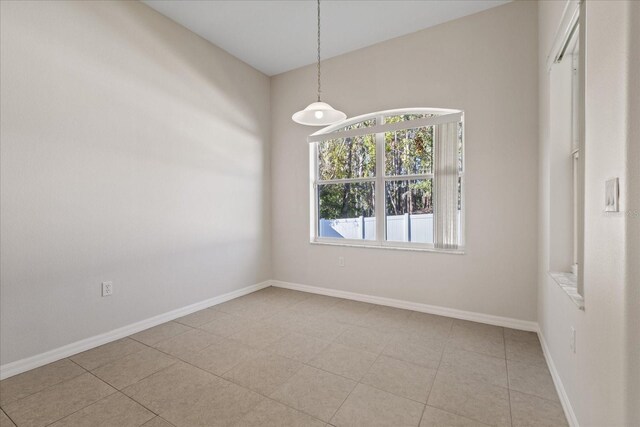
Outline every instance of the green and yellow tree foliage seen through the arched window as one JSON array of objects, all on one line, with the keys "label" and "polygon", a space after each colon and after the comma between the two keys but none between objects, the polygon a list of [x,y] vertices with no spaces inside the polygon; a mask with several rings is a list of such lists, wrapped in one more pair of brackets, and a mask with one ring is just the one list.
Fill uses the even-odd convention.
[{"label": "green and yellow tree foliage seen through the arched window", "polygon": [[[387,117],[387,123],[415,120],[424,115]],[[344,130],[374,126],[375,120],[356,123]],[[385,185],[386,211],[389,215],[433,212],[431,179],[402,180],[403,175],[432,173],[433,127],[385,133],[385,174],[398,181]],[[376,176],[375,135],[338,138],[318,144],[320,180],[374,178]],[[374,216],[373,182],[320,185],[319,217],[324,219]]]}]

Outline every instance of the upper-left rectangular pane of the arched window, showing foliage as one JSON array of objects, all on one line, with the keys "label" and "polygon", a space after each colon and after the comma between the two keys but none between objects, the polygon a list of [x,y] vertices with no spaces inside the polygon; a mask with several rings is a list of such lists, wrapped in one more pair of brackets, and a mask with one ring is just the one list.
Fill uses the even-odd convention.
[{"label": "upper-left rectangular pane of the arched window, showing foliage", "polygon": [[318,178],[368,178],[376,174],[375,135],[338,138],[318,143]]}]

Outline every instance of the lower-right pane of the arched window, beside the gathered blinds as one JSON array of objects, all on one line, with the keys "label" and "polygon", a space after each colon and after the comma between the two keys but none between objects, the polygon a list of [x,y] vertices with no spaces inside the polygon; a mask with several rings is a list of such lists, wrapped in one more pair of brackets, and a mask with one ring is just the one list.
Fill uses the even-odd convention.
[{"label": "lower-right pane of the arched window, beside the gathered blinds", "polygon": [[433,180],[387,181],[387,240],[433,243]]}]

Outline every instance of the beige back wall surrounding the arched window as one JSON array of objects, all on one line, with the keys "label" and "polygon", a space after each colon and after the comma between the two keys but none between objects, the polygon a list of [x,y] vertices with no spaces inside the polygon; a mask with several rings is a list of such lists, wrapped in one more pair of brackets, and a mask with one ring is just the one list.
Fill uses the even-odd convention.
[{"label": "beige back wall surrounding the arched window", "polygon": [[323,97],[348,116],[465,111],[465,255],[309,244],[306,136],[314,130],[291,114],[314,99],[316,70],[273,77],[274,278],[534,320],[536,25],[536,4],[515,2],[323,62]]}]

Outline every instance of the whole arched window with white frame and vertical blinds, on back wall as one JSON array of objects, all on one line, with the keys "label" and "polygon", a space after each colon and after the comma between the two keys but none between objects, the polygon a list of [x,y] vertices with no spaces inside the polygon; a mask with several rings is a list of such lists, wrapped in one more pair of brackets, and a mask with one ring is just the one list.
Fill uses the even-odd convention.
[{"label": "whole arched window with white frame and vertical blinds, on back wall", "polygon": [[313,243],[461,252],[461,110],[365,114],[308,141]]}]

